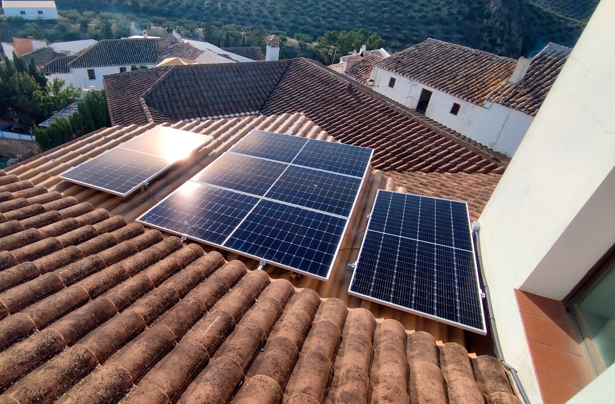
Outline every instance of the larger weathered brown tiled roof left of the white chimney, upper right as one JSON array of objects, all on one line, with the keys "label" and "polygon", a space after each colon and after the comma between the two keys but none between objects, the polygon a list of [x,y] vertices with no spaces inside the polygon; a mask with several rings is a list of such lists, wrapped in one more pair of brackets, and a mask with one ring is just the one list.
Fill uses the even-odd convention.
[{"label": "larger weathered brown tiled roof left of the white chimney, upper right", "polygon": [[480,104],[512,75],[516,64],[514,59],[429,38],[376,66]]}]

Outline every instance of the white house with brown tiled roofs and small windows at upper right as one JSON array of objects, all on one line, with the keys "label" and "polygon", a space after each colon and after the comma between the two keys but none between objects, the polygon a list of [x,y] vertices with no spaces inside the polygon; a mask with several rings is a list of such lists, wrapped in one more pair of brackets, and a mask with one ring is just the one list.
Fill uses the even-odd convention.
[{"label": "white house with brown tiled roofs and small windows at upper right", "polygon": [[569,52],[550,43],[531,60],[517,61],[427,39],[376,62],[367,84],[512,156]]}]

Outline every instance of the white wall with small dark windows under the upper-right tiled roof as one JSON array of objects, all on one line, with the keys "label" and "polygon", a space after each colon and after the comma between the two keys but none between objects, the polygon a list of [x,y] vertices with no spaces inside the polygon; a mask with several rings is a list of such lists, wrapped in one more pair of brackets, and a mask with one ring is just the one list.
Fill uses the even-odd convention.
[{"label": "white wall with small dark windows under the upper-right tiled roof", "polygon": [[[389,87],[391,77],[395,78],[393,88]],[[533,116],[496,103],[481,106],[464,101],[383,68],[376,67],[372,78],[376,91],[411,109],[416,108],[423,89],[431,91],[425,115],[509,156],[514,155],[534,119]],[[458,115],[450,113],[453,103],[461,105]]]}]

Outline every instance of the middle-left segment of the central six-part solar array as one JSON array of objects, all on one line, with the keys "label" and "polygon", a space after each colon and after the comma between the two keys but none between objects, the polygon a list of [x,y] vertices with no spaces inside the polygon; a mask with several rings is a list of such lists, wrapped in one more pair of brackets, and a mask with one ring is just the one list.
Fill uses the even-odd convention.
[{"label": "middle-left segment of the central six-part solar array", "polygon": [[276,161],[224,153],[192,180],[263,196],[287,167]]}]

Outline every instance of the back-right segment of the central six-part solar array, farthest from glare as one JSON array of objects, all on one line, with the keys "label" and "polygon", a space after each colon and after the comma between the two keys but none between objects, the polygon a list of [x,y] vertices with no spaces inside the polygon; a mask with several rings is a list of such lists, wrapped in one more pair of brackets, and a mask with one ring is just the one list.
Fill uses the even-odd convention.
[{"label": "back-right segment of the central six-part solar array, farthest from glare", "polygon": [[309,139],[293,164],[364,177],[372,153],[371,148]]}]

